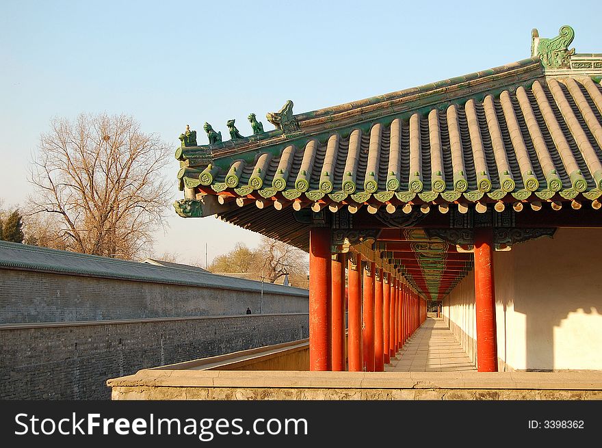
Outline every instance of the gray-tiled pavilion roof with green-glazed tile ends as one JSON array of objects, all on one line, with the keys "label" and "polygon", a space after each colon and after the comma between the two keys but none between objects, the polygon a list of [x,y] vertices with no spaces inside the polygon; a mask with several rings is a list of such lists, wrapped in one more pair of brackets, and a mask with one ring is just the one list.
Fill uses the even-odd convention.
[{"label": "gray-tiled pavilion roof with green-glazed tile ends", "polygon": [[538,58],[295,117],[291,135],[180,148],[183,186],[352,206],[601,194],[600,85]]}]

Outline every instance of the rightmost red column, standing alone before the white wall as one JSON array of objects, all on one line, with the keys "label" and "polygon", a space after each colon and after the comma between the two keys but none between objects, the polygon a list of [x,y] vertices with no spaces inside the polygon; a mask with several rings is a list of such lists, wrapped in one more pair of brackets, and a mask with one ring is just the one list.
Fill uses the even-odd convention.
[{"label": "rightmost red column, standing alone before the white wall", "polygon": [[477,371],[497,372],[493,229],[475,228]]}]

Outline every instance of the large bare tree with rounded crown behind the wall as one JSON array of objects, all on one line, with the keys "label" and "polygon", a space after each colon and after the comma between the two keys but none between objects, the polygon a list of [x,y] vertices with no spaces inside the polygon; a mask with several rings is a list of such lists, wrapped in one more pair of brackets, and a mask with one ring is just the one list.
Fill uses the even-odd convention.
[{"label": "large bare tree with rounded crown behind the wall", "polygon": [[152,245],[172,199],[161,172],[170,153],[131,116],[55,118],[31,165],[32,213],[60,216],[68,250],[133,259]]}]

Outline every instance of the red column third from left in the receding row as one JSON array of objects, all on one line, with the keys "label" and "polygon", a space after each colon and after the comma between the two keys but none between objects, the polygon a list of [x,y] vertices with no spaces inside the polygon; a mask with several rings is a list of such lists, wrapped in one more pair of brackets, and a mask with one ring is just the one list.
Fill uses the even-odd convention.
[{"label": "red column third from left in the receding row", "polygon": [[349,371],[362,371],[362,256],[348,254],[348,361]]}]

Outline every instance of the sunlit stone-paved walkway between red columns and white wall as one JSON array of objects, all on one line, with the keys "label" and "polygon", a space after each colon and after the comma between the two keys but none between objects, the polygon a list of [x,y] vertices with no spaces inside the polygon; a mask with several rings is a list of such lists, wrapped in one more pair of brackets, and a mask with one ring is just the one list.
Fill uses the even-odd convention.
[{"label": "sunlit stone-paved walkway between red columns and white wall", "polygon": [[443,319],[427,317],[406,345],[384,366],[387,372],[476,370]]}]

